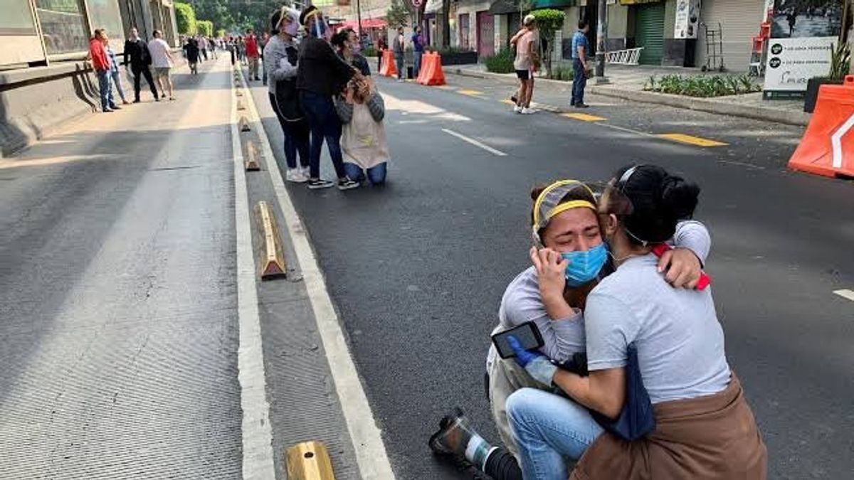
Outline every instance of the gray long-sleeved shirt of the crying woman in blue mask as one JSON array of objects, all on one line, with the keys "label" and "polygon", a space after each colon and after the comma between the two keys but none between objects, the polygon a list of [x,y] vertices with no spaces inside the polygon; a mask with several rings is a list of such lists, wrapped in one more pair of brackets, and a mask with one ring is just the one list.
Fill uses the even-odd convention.
[{"label": "gray long-sleeved shirt of the crying woman in blue mask", "polygon": [[[705,225],[693,220],[677,225],[670,243],[690,249],[703,263],[711,249],[709,231]],[[658,277],[663,278],[661,274],[658,274]],[[553,320],[549,317],[542,302],[540,284],[533,266],[519,273],[507,285],[504,297],[501,298],[498,321],[499,325],[495,327],[493,334],[525,322],[534,322],[540,329],[544,343],[540,349],[541,353],[558,362],[570,360],[572,354],[583,352],[586,348],[582,311],[576,309],[575,314],[566,319]],[[489,349],[487,368],[494,361],[496,354],[494,347]]]}]

